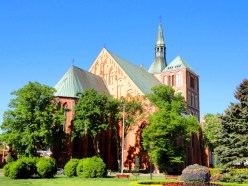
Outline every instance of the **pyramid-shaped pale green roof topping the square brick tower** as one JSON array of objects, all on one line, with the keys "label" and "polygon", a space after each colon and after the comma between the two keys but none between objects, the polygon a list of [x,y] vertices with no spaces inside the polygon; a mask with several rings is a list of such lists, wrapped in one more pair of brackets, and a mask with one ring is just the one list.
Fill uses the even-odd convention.
[{"label": "pyramid-shaped pale green roof topping the square brick tower", "polygon": [[191,73],[198,76],[194,70],[183,60],[181,56],[177,56],[164,70],[163,72],[178,70],[178,69],[187,69]]}]

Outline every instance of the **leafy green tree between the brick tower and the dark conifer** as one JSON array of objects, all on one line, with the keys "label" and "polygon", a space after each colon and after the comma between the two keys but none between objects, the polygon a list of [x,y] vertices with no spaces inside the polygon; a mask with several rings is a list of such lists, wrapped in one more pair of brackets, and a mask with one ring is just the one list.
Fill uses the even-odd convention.
[{"label": "leafy green tree between the brick tower and the dark conifer", "polygon": [[218,131],[221,128],[221,115],[220,114],[207,114],[203,125],[203,136],[205,145],[213,151],[216,147],[216,139]]}]

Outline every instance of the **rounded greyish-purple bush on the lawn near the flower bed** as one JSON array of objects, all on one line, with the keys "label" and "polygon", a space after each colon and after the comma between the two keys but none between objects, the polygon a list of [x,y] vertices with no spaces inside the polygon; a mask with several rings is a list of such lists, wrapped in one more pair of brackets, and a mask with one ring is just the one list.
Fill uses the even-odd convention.
[{"label": "rounded greyish-purple bush on the lawn near the flower bed", "polygon": [[188,184],[208,184],[210,182],[210,171],[205,166],[194,164],[183,170],[181,178]]}]

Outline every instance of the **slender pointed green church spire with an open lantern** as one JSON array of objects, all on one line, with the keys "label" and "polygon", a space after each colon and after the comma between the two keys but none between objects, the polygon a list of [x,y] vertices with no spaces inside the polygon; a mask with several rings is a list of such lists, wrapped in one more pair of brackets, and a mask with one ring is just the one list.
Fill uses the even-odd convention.
[{"label": "slender pointed green church spire with an open lantern", "polygon": [[148,72],[152,74],[161,73],[166,66],[166,46],[164,42],[162,23],[160,22],[158,26],[158,38],[155,46],[155,60]]}]

